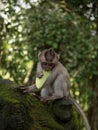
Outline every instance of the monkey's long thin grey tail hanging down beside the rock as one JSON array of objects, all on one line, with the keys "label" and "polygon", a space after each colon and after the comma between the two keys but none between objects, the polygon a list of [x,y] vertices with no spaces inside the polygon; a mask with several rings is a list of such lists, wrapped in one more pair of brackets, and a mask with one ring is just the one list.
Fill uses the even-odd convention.
[{"label": "monkey's long thin grey tail hanging down beside the rock", "polygon": [[87,130],[91,130],[90,128],[90,125],[89,125],[89,122],[83,112],[83,110],[81,109],[80,105],[76,102],[76,100],[74,98],[72,98],[71,96],[69,96],[69,99],[72,101],[72,103],[75,105],[76,109],[78,110],[78,112],[80,113],[80,115],[82,116],[83,118],[83,121],[84,121],[84,124],[85,124],[85,127]]}]

